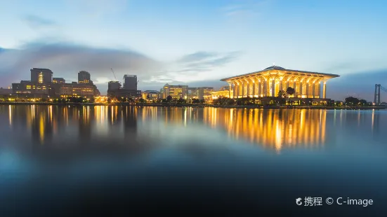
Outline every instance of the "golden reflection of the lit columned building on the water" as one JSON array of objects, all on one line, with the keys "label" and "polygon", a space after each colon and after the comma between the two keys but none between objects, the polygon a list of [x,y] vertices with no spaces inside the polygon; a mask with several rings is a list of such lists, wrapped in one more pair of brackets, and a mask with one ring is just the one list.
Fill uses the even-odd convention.
[{"label": "golden reflection of the lit columned building on the water", "polygon": [[244,139],[281,151],[325,143],[327,111],[282,109],[204,109],[204,122],[223,127],[234,139]]}]

